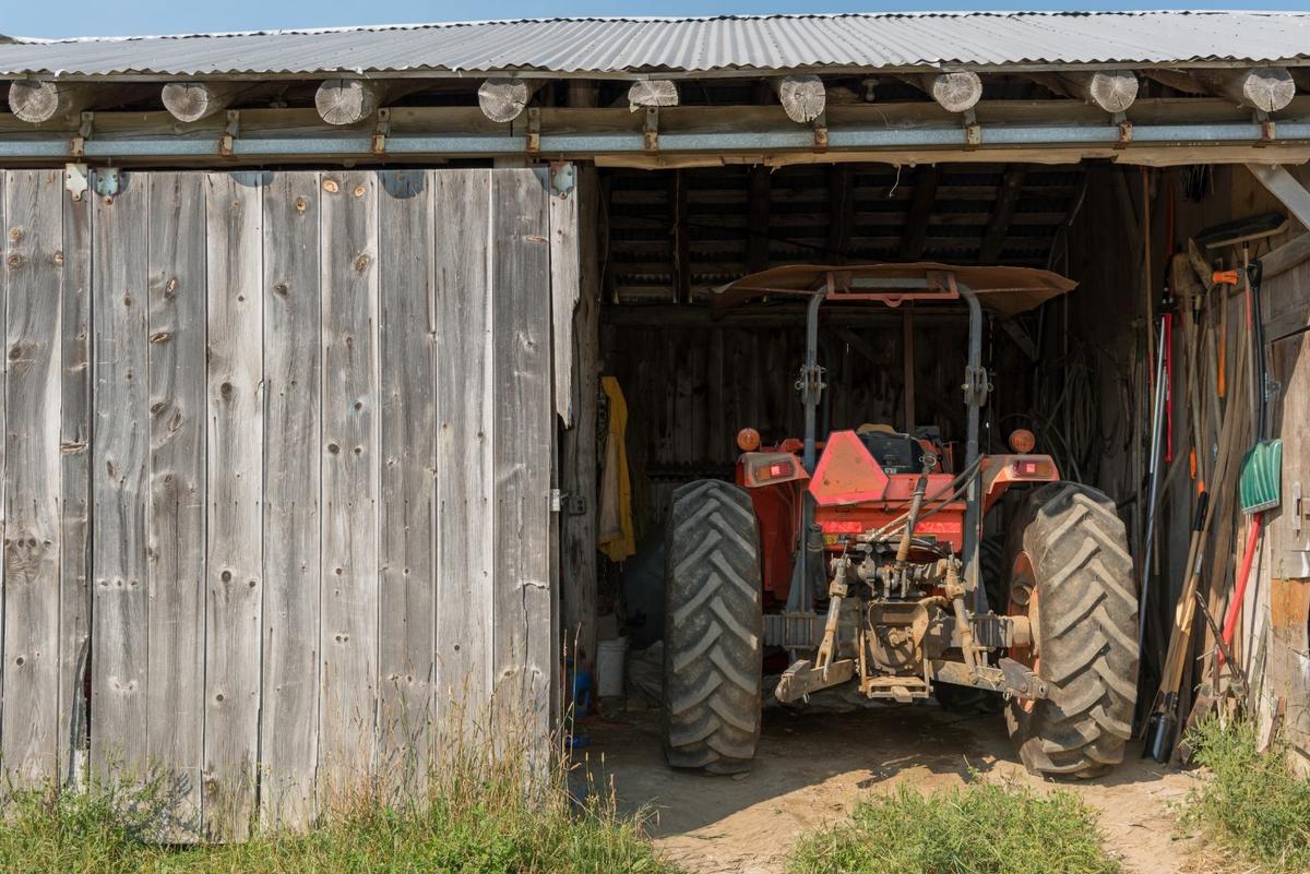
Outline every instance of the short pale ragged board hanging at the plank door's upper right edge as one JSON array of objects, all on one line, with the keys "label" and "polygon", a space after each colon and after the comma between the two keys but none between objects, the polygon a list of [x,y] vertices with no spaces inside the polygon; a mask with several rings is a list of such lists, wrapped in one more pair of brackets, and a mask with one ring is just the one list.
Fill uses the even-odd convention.
[{"label": "short pale ragged board hanging at the plank door's upper right edge", "polygon": [[574,184],[550,198],[550,302],[552,351],[554,357],[555,412],[565,428],[574,425],[578,398],[574,391],[574,315],[582,296],[582,263],[578,256],[578,186],[580,170],[574,166]]}]

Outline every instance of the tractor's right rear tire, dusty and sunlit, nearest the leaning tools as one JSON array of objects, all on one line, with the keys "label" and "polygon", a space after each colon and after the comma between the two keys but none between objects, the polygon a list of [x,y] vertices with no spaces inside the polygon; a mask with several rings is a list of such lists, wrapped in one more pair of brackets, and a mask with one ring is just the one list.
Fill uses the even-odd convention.
[{"label": "tractor's right rear tire, dusty and sunlit, nearest the leaning tools", "polygon": [[1094,777],[1124,758],[1137,688],[1137,591],[1115,504],[1077,483],[1035,489],[1006,544],[1011,615],[1032,645],[1010,657],[1047,680],[1015,697],[1010,739],[1032,773]]}]

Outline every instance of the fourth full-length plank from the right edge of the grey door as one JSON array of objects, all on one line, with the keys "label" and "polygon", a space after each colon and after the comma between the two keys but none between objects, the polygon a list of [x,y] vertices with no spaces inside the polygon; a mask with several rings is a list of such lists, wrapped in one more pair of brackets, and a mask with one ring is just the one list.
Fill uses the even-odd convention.
[{"label": "fourth full-length plank from the right edge of the grey door", "polygon": [[322,177],[322,670],[318,803],[372,773],[377,709],[377,179]]}]

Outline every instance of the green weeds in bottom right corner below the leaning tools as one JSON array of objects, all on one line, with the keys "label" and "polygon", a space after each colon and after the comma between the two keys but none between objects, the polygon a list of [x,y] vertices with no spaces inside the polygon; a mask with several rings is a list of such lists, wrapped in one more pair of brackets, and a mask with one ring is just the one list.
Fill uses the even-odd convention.
[{"label": "green weeds in bottom right corner below the leaning tools", "polygon": [[1188,797],[1183,824],[1256,870],[1310,870],[1310,780],[1292,776],[1285,748],[1260,752],[1255,726],[1244,721],[1207,720],[1188,743],[1210,776]]}]

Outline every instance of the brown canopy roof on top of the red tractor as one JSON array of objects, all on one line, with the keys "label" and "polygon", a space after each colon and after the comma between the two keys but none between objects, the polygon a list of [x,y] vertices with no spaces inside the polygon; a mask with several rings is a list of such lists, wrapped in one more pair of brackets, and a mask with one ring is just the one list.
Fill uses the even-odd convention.
[{"label": "brown canopy roof on top of the red tractor", "polygon": [[[827,294],[832,301],[861,300],[876,292],[884,304],[903,300],[955,300],[954,288],[964,287],[979,302],[1002,315],[1018,315],[1077,288],[1077,283],[1031,267],[955,267],[934,262],[914,264],[789,264],[743,276],[710,294],[710,311],[722,318],[749,301],[774,294]],[[904,292],[901,294],[901,292]]]}]

